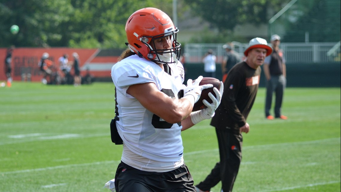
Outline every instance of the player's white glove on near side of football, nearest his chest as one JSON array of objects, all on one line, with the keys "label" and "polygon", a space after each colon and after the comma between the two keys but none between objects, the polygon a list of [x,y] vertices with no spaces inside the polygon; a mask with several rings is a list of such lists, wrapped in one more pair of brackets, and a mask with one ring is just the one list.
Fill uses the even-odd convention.
[{"label": "player's white glove on near side of football, nearest his chest", "polygon": [[192,105],[194,105],[200,98],[201,92],[206,89],[213,87],[212,84],[199,85],[200,81],[203,79],[203,76],[199,76],[194,83],[192,79],[187,81],[187,86],[183,85],[183,97],[188,98]]}]

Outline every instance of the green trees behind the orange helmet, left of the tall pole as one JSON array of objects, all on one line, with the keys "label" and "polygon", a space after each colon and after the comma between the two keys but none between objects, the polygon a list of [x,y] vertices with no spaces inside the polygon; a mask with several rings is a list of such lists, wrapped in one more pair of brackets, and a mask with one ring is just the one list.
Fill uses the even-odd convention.
[{"label": "green trees behind the orange helmet, left of the tall pole", "polygon": [[172,0],[1,0],[0,46],[122,49],[127,18],[145,7],[172,13]]}]

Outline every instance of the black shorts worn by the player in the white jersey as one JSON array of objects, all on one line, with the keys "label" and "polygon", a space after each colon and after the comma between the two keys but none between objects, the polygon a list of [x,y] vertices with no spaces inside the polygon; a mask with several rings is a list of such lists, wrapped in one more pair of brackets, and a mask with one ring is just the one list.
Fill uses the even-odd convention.
[{"label": "black shorts worn by the player in the white jersey", "polygon": [[187,166],[164,173],[146,172],[121,162],[116,170],[116,192],[195,192]]}]

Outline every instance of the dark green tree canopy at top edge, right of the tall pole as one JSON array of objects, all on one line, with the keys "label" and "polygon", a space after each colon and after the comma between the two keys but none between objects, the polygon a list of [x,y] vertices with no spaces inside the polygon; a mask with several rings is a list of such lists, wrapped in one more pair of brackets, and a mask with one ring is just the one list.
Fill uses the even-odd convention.
[{"label": "dark green tree canopy at top edge, right of the tall pole", "polygon": [[[187,0],[192,10],[219,31],[233,30],[237,24],[261,24],[269,20],[269,10],[277,13],[288,0]],[[272,15],[271,15],[272,16]],[[270,17],[271,17],[270,16]]]}]

